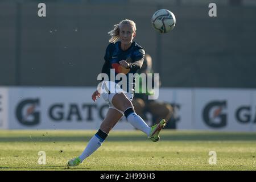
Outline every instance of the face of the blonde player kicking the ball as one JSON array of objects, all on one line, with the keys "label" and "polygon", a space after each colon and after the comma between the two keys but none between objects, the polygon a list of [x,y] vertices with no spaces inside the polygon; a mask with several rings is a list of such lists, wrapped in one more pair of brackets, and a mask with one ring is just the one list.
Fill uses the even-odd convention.
[{"label": "face of the blonde player kicking the ball", "polygon": [[119,37],[121,44],[131,44],[136,33],[133,32],[133,27],[130,24],[121,24]]}]

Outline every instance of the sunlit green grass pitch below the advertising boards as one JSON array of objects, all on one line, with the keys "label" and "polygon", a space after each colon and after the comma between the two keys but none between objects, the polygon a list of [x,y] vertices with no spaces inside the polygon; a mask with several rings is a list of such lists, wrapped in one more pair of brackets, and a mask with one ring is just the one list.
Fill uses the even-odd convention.
[{"label": "sunlit green grass pitch below the advertising boards", "polygon": [[[141,131],[112,131],[77,167],[67,161],[96,131],[0,130],[0,170],[255,170],[256,133],[163,130],[159,142]],[[39,165],[39,151],[46,164]],[[217,164],[210,165],[209,151]]]}]

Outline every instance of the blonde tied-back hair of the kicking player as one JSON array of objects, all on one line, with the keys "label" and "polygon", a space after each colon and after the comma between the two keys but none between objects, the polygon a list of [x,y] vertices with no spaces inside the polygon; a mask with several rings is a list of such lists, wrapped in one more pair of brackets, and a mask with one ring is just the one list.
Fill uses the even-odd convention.
[{"label": "blonde tied-back hair of the kicking player", "polygon": [[109,39],[109,42],[115,43],[119,40],[119,30],[120,30],[121,24],[130,24],[130,26],[133,27],[133,33],[136,31],[136,24],[133,20],[129,20],[129,19],[122,20],[118,24],[114,25],[113,30],[108,32],[108,34],[111,36],[111,38]]}]

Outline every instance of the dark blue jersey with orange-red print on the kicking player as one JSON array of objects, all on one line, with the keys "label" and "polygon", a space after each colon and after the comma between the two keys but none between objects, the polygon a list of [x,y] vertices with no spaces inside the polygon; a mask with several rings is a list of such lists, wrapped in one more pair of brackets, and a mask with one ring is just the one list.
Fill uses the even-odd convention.
[{"label": "dark blue jersey with orange-red print on the kicking player", "polygon": [[[136,73],[138,69],[141,69],[145,57],[144,49],[137,43],[131,43],[131,46],[126,51],[121,49],[121,42],[110,43],[106,48],[104,56],[105,64],[102,68],[102,73],[108,74],[110,80],[110,69],[114,69],[115,76],[118,73],[123,73],[127,78],[127,89],[129,89],[129,83],[132,84],[132,91],[135,89],[135,77],[133,80],[129,80],[129,73]],[[129,68],[124,68],[119,64],[119,61],[126,60],[130,64]],[[115,80],[116,83],[120,80]],[[122,87],[122,85],[121,85]],[[130,92],[131,90],[125,90]]]}]

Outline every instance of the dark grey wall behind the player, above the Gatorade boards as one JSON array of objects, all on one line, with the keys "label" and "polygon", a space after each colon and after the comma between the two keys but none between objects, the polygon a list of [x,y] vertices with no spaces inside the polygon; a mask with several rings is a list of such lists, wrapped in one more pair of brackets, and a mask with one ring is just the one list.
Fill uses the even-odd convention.
[{"label": "dark grey wall behind the player, above the Gatorade boards", "polygon": [[[256,7],[208,4],[0,2],[0,85],[95,86],[122,19],[137,23],[137,41],[152,56],[162,86],[256,88]],[[151,27],[158,9],[176,16],[172,32]]]}]

